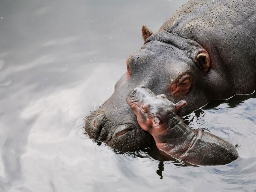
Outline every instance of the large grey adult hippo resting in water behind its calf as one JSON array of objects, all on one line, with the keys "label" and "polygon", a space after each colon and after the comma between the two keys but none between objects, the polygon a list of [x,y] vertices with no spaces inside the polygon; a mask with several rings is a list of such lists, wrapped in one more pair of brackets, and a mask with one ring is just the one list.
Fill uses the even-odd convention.
[{"label": "large grey adult hippo resting in water behind its calf", "polygon": [[140,84],[173,103],[186,100],[180,116],[212,99],[253,92],[255,8],[255,0],[190,0],[156,34],[143,26],[144,45],[128,57],[112,96],[87,117],[88,135],[120,151],[148,146],[152,136],[126,103]]}]

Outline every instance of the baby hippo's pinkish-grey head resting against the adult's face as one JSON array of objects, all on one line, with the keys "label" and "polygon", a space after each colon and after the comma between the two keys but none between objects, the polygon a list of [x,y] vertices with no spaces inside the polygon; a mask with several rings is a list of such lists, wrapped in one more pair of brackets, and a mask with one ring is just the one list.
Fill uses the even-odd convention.
[{"label": "baby hippo's pinkish-grey head resting against the adult's face", "polygon": [[155,95],[143,85],[132,89],[126,101],[137,116],[140,127],[150,133],[155,128],[164,128],[171,116],[187,105],[184,100],[174,104],[164,94]]}]

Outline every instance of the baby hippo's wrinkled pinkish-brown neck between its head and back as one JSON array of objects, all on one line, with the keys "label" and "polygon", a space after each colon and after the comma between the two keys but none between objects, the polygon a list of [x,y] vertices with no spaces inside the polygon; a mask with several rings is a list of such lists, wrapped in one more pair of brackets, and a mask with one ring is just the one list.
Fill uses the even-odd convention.
[{"label": "baby hippo's wrinkled pinkish-brown neck between its head and back", "polygon": [[196,130],[191,129],[176,114],[170,115],[169,122],[163,128],[164,131],[152,134],[156,146],[169,155],[179,158],[190,146],[196,136]]}]

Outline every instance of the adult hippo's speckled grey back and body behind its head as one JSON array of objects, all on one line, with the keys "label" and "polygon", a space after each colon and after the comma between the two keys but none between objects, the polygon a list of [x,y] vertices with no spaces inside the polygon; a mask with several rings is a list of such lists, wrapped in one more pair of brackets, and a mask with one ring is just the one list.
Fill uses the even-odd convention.
[{"label": "adult hippo's speckled grey back and body behind its head", "polygon": [[[211,70],[205,80],[216,78],[214,98],[227,92],[253,92],[256,86],[256,1],[191,0],[167,19],[160,31],[168,31],[200,44],[210,55]],[[221,86],[222,87],[222,86]],[[229,91],[228,91],[229,90]],[[214,91],[213,91],[214,92]]]}]

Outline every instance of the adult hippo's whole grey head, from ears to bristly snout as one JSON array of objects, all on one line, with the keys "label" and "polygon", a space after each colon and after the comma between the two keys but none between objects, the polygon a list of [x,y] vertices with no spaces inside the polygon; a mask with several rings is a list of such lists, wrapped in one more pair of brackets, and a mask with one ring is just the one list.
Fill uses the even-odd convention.
[{"label": "adult hippo's whole grey head, from ears to bristly snout", "polygon": [[85,122],[91,138],[124,152],[145,148],[153,141],[126,102],[133,88],[143,84],[173,103],[186,100],[188,105],[178,111],[180,116],[205,105],[226,88],[217,83],[225,79],[218,70],[211,70],[208,52],[196,41],[164,29],[153,34],[145,26],[142,36],[144,45],[126,60],[127,72],[116,83],[114,93]]}]

